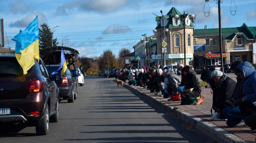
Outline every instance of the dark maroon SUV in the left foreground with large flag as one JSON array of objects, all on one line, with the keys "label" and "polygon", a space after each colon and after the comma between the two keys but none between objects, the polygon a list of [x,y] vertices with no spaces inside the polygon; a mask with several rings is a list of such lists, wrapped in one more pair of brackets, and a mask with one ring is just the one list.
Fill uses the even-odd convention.
[{"label": "dark maroon SUV in the left foreground with large flag", "polygon": [[0,55],[0,122],[30,122],[38,135],[49,132],[49,122],[59,120],[59,92],[52,75],[40,58],[23,75],[15,55]]}]

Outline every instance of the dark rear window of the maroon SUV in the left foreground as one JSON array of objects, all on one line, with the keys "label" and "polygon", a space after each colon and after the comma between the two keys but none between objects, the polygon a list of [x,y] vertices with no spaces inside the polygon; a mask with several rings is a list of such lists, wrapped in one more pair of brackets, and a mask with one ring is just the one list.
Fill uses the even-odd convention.
[{"label": "dark rear window of the maroon SUV in the left foreground", "polygon": [[0,57],[0,67],[0,77],[23,75],[23,69],[16,57]]}]

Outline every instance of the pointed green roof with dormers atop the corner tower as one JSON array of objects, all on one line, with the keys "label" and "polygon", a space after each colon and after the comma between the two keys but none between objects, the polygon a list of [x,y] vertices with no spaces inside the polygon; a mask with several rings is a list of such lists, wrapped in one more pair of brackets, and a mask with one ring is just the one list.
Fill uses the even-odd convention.
[{"label": "pointed green roof with dormers atop the corner tower", "polygon": [[[174,17],[174,15],[178,14],[180,16],[180,25],[178,26],[173,26],[172,25],[172,19]],[[172,9],[167,13],[167,15],[163,15],[164,18],[166,18],[168,20],[167,25],[165,26],[165,28],[178,28],[178,27],[183,27],[183,14],[180,13],[180,11],[178,11],[175,7],[172,7]],[[188,16],[188,14],[186,14],[186,17]],[[156,17],[156,21],[161,20],[161,16],[160,17]],[[155,29],[160,29],[161,27],[161,23],[159,25],[157,25],[157,27]],[[185,25],[186,27],[195,27],[194,25],[192,25],[192,23],[190,23],[190,25]]]}]

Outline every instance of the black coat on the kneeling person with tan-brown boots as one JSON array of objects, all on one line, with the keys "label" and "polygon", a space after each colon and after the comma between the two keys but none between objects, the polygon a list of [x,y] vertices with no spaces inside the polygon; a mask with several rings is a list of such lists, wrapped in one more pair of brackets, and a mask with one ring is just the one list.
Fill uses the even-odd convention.
[{"label": "black coat on the kneeling person with tan-brown boots", "polygon": [[188,74],[183,77],[185,80],[185,87],[184,89],[192,89],[194,88],[191,92],[183,92],[182,95],[184,97],[199,97],[201,95],[201,86],[199,83],[198,78],[196,77],[196,71],[193,70],[192,68],[189,68]]}]

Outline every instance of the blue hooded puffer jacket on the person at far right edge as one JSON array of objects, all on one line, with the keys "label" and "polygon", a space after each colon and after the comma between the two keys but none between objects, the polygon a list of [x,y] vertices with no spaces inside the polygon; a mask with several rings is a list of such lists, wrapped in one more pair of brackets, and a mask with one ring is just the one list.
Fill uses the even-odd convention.
[{"label": "blue hooded puffer jacket on the person at far right edge", "polygon": [[256,106],[256,71],[254,67],[248,61],[244,61],[236,68],[244,75],[244,101],[249,101]]}]

